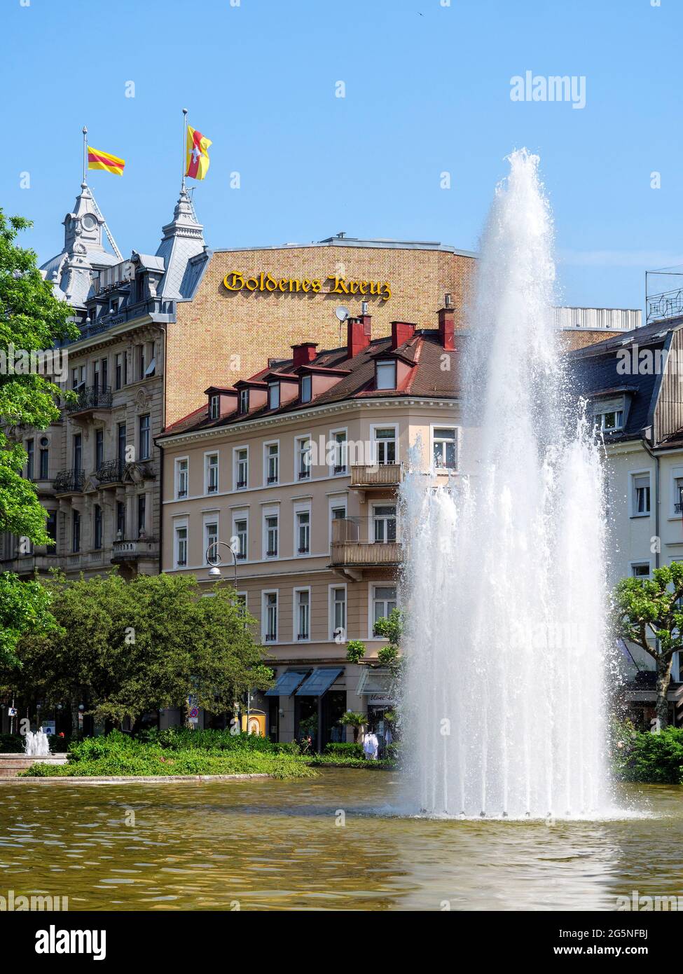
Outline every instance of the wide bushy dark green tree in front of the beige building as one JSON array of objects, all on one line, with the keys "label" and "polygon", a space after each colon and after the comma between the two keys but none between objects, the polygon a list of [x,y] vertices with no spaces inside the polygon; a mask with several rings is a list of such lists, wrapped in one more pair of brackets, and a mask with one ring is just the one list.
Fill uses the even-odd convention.
[{"label": "wide bushy dark green tree in front of the beige building", "polygon": [[190,694],[222,713],[247,687],[272,684],[251,636],[255,619],[230,587],[218,584],[202,598],[194,579],[123,581],[116,572],[87,581],[56,576],[47,585],[59,629],[24,637],[13,689],[48,705],[68,701],[74,726],[81,703],[97,721],[134,725],[171,707],[189,716]]}]

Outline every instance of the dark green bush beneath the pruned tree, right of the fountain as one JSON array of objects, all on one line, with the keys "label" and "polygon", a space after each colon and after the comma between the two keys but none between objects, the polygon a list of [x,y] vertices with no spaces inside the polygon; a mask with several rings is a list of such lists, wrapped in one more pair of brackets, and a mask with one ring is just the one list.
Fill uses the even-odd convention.
[{"label": "dark green bush beneath the pruned tree, right of the fountain", "polygon": [[613,763],[615,773],[623,781],[683,784],[683,728],[618,737]]}]

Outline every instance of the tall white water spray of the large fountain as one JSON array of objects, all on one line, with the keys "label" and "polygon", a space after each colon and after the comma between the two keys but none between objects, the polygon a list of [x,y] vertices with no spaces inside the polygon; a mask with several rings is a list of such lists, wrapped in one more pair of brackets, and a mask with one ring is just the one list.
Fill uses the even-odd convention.
[{"label": "tall white water spray of the large fountain", "polygon": [[510,165],[456,343],[459,473],[402,489],[403,738],[419,809],[590,815],[606,803],[602,475],[556,351],[538,158]]}]

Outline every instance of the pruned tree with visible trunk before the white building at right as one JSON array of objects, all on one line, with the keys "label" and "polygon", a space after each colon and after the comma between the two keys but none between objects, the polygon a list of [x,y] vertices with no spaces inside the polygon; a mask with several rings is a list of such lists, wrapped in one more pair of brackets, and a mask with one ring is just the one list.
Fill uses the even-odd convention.
[{"label": "pruned tree with visible trunk before the white building at right", "polygon": [[[657,663],[657,721],[668,725],[673,654],[683,650],[683,564],[657,568],[650,579],[622,579],[614,593],[614,628]],[[649,637],[649,639],[648,639]]]}]

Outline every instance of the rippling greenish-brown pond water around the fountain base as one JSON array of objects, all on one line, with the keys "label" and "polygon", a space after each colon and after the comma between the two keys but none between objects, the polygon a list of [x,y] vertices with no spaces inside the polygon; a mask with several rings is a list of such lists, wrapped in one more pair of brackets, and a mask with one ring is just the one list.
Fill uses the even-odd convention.
[{"label": "rippling greenish-brown pond water around the fountain base", "polygon": [[399,794],[396,774],[339,769],[4,782],[0,895],[68,896],[70,910],[613,910],[633,889],[683,896],[681,788],[631,787],[647,817],[550,825],[401,817]]}]

